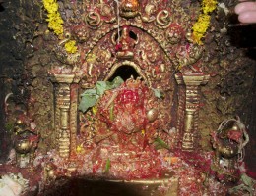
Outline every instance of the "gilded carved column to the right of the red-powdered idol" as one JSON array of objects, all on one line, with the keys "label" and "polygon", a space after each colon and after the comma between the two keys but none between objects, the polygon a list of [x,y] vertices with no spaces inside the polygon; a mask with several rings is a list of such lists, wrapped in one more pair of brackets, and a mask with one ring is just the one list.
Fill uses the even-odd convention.
[{"label": "gilded carved column to the right of the red-powdered idol", "polygon": [[[182,149],[185,151],[193,151],[195,147],[195,135],[198,133],[198,112],[200,104],[199,86],[206,84],[209,75],[196,74],[186,75],[184,73],[175,75],[179,85],[185,85],[185,115],[183,119],[184,128],[182,136]],[[181,97],[182,98],[182,97]],[[183,103],[182,100],[179,103]],[[182,121],[178,117],[178,121]]]}]

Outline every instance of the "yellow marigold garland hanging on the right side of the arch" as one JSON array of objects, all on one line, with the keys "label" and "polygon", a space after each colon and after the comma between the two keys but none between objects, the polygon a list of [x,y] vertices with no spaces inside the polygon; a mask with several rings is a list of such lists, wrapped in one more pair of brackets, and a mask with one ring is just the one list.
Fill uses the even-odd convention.
[{"label": "yellow marigold garland hanging on the right side of the arch", "polygon": [[201,39],[205,36],[205,33],[210,24],[210,13],[216,9],[216,0],[203,0],[202,1],[202,11],[203,13],[199,15],[197,22],[192,26],[193,30],[193,41],[199,45],[202,45]]}]

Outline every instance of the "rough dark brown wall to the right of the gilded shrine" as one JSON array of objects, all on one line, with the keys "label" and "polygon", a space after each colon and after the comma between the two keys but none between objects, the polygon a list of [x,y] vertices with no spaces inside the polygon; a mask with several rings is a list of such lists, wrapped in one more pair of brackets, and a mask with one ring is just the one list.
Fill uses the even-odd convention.
[{"label": "rough dark brown wall to the right of the gilded shrine", "polygon": [[[216,130],[224,119],[239,116],[247,127],[250,142],[246,146],[245,161],[253,170],[256,159],[256,25],[228,27],[238,24],[232,13],[235,1],[224,1],[229,9],[218,8],[212,20],[210,33],[206,36],[205,62],[212,74],[202,89],[204,102],[200,113],[200,129],[203,137]],[[211,149],[208,140],[202,140],[205,148]]]}]

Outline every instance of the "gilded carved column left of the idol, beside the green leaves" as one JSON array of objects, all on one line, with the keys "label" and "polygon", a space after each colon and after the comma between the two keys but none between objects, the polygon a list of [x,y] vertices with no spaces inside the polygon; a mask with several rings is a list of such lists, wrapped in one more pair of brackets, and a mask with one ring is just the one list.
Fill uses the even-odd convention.
[{"label": "gilded carved column left of the idol, beside the green leaves", "polygon": [[54,91],[55,106],[55,131],[58,135],[58,151],[61,157],[69,157],[71,145],[70,105],[71,90],[74,74],[54,74],[53,82],[58,85]]}]

